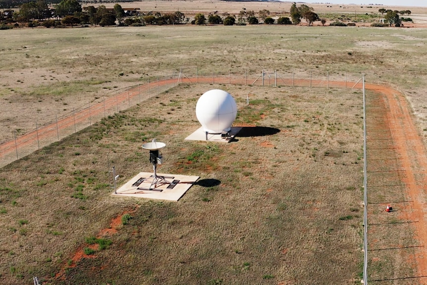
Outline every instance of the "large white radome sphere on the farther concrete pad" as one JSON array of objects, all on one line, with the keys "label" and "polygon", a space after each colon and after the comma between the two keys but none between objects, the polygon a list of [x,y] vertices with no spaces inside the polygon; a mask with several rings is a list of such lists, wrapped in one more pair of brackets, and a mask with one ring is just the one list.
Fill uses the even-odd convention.
[{"label": "large white radome sphere on the farther concrete pad", "polygon": [[237,105],[230,93],[213,89],[200,96],[196,116],[205,131],[213,134],[227,132],[236,119]]}]

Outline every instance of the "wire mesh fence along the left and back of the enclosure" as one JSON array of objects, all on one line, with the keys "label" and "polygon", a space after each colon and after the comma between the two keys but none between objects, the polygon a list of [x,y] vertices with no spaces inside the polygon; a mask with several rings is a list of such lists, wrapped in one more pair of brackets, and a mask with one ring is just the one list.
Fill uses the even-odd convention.
[{"label": "wire mesh fence along the left and back of the enclosure", "polygon": [[[180,83],[239,84],[265,87],[295,86],[322,88],[354,88],[361,75],[345,72],[278,71],[278,70],[210,70],[209,68],[186,68],[142,80],[137,85],[128,86],[88,102],[75,106],[66,114],[44,114],[51,120],[43,125],[34,122],[35,128],[25,134],[13,131],[10,139],[0,145],[0,167],[32,152],[76,133],[101,119],[126,110],[131,106],[163,94]],[[27,118],[28,119],[28,118]]]}]

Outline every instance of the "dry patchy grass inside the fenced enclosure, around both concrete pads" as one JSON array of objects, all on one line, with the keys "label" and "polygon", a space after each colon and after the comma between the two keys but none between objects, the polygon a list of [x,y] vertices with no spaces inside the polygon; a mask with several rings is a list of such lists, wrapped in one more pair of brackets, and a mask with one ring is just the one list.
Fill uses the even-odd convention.
[{"label": "dry patchy grass inside the fenced enclosure, around both concrete pads", "polygon": [[[278,132],[244,131],[227,145],[183,141],[199,125],[188,114],[211,88],[233,94],[237,122]],[[131,108],[3,168],[2,284],[49,280],[86,237],[134,207],[108,249],[52,283],[353,284],[361,260],[360,102],[350,89],[184,84],[148,102],[156,114]],[[177,203],[109,196],[107,154],[121,181],[150,171],[141,137],[167,144],[162,172],[219,184],[196,184]]]}]

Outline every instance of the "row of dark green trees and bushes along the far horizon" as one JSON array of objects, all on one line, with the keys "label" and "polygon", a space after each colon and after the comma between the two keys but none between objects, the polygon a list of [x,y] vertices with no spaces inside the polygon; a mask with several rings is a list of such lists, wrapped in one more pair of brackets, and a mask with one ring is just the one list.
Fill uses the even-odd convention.
[{"label": "row of dark green trees and bushes along the far horizon", "polygon": [[[0,0],[0,3],[14,3],[19,0]],[[6,22],[29,22],[28,26],[44,25],[46,27],[54,27],[59,25],[75,26],[75,25],[100,25],[112,26],[118,24],[119,26],[144,26],[144,25],[175,25],[187,24],[190,18],[186,17],[180,11],[161,14],[160,12],[141,12],[124,11],[120,4],[114,4],[113,8],[107,8],[105,5],[95,7],[93,5],[82,7],[79,0],[56,0],[53,4],[49,2],[51,7],[48,6],[46,0],[32,0],[22,3],[19,11],[6,10],[1,13],[1,20]],[[402,20],[411,20],[400,18],[399,14],[410,15],[410,10],[390,10],[381,8],[378,10],[388,24],[400,26]],[[257,13],[254,10],[246,10],[243,8],[239,14],[231,15],[223,13],[222,17],[216,12],[210,13],[207,17],[203,13],[195,15],[191,24],[205,25],[205,24],[223,24],[223,25],[246,25],[246,24],[281,24],[281,25],[298,25],[302,21],[306,21],[308,26],[314,22],[320,21],[322,25],[326,23],[326,19],[321,19],[317,13],[314,12],[312,7],[306,4],[301,4],[297,7],[296,2],[292,3],[289,11],[290,17],[281,16],[277,20],[270,16],[270,11],[263,9]],[[412,20],[411,20],[412,21]],[[338,23],[343,24],[344,23]],[[15,24],[15,26],[17,23]]]}]

